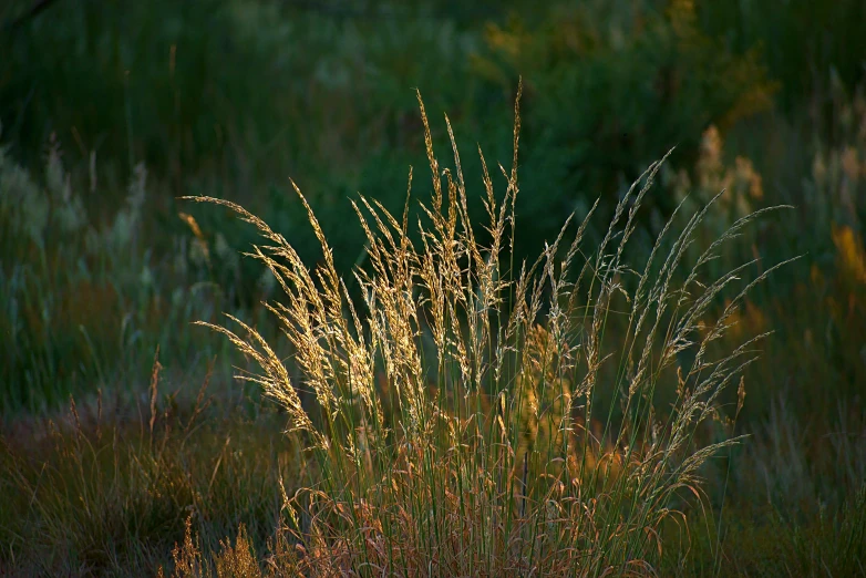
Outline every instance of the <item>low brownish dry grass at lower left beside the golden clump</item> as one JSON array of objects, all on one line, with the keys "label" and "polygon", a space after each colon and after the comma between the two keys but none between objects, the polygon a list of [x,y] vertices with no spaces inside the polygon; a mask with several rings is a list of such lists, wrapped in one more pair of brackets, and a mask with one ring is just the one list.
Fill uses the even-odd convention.
[{"label": "low brownish dry grass at lower left beside the golden clump", "polygon": [[280,481],[302,477],[281,420],[250,420],[207,382],[189,400],[158,368],[137,407],[100,395],[51,420],[3,424],[2,570],[154,576],[190,517],[208,551],[239,523],[262,544],[272,534]]}]

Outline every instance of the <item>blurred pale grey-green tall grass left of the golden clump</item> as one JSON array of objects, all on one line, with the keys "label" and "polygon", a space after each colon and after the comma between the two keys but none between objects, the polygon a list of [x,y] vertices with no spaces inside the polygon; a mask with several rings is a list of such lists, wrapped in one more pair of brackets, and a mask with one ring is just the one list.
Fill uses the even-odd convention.
[{"label": "blurred pale grey-green tall grass left of the golden clump", "polygon": [[70,394],[100,388],[142,393],[140,376],[159,345],[169,371],[175,361],[202,368],[227,349],[189,324],[234,305],[235,289],[220,285],[238,260],[225,238],[205,237],[184,214],[186,225],[173,215],[175,231],[155,234],[148,224],[159,216],[143,164],[112,207],[104,199],[116,192],[99,178],[95,156],[85,186],[63,153],[52,138],[37,175],[0,145],[3,419],[53,412]]}]

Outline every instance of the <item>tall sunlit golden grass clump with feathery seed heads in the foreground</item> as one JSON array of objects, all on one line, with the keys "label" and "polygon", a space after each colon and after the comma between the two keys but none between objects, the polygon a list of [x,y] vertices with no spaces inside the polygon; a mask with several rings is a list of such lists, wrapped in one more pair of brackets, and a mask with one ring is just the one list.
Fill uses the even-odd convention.
[{"label": "tall sunlit golden grass clump with feathery seed heads in the foreground", "polygon": [[[661,166],[653,163],[595,248],[584,240],[592,209],[576,230],[566,219],[534,262],[514,262],[519,95],[502,198],[480,151],[483,227],[468,218],[451,124],[445,117],[454,165],[443,168],[419,95],[432,198],[410,224],[410,172],[402,218],[374,199],[353,203],[369,259],[354,271],[360,302],[297,186],[322,250],[312,270],[243,207],[193,197],[258,228],[267,242],[251,256],[287,297],[268,308],[293,347],[297,376],[249,324],[231,316],[239,331],[204,324],[259,364],[260,373],[240,378],[286,410],[318,471],[287,497],[291,571],[650,574],[663,553],[662,525],[684,518],[687,496],[701,495],[701,467],[739,440],[709,438],[704,424],[720,417],[721,392],[738,383],[764,336],[715,358],[710,345],[777,266],[740,283],[750,264],[709,279],[704,270],[764,211],[736,220],[689,261],[716,196],[679,234],[671,217],[633,267],[628,241]],[[709,321],[711,305],[732,288],[730,305]],[[607,331],[615,319],[623,331]],[[734,413],[744,395],[741,379]]]}]

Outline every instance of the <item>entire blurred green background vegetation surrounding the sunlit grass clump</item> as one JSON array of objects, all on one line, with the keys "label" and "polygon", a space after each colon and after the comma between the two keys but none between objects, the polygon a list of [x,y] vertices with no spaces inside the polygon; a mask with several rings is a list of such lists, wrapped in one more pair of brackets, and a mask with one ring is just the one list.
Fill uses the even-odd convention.
[{"label": "entire blurred green background vegetation surrounding the sunlit grass clump", "polygon": [[291,177],[348,272],[348,198],[399,210],[425,166],[413,89],[449,114],[480,194],[470,153],[507,165],[522,75],[518,257],[596,198],[609,214],[674,146],[645,246],[687,195],[726,189],[707,235],[795,207],[718,265],[803,256],[739,313],[743,334],[776,333],[746,372],[759,465],[734,477],[773,507],[841,504],[866,479],[864,29],[859,0],[3,2],[0,416],[134,398],[157,345],[178,380],[213,359],[228,373],[223,340],[189,322],[265,323],[275,288],[238,254],[252,230],[177,197],[239,202],[313,265]]}]

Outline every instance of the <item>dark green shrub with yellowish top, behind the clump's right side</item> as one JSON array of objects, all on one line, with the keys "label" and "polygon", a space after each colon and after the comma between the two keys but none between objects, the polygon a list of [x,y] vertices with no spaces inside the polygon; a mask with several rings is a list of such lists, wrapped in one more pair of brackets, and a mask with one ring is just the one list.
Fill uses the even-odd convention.
[{"label": "dark green shrub with yellowish top, behind the clump's right side", "polygon": [[[554,2],[535,24],[515,18],[488,25],[486,50],[473,61],[477,73],[505,85],[528,71],[532,169],[523,175],[527,194],[518,211],[520,244],[534,245],[525,250],[555,235],[560,214],[581,213],[600,192],[616,190],[599,206],[609,218],[659,151],[677,146],[690,163],[711,124],[724,134],[772,105],[776,85],[760,54],[725,50],[701,29],[694,4]],[[647,202],[640,225],[654,235],[649,217],[658,211],[663,221],[677,203],[663,195]],[[599,240],[605,228],[590,226],[590,233]]]}]

